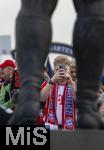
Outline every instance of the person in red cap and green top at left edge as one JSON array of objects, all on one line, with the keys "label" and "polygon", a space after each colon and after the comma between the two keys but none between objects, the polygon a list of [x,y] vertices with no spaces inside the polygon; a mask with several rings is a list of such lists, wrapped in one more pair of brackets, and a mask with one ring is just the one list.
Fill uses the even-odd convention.
[{"label": "person in red cap and green top at left edge", "polygon": [[11,97],[11,81],[16,65],[12,60],[5,60],[0,67],[2,69],[2,77],[4,79],[4,83],[0,90],[0,105],[13,109],[14,103]]}]

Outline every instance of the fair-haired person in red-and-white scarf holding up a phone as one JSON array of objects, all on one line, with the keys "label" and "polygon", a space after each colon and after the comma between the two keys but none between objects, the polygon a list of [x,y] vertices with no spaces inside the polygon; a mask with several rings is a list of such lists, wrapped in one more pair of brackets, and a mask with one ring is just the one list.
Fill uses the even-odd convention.
[{"label": "fair-haired person in red-and-white scarf holding up a phone", "polygon": [[75,83],[70,75],[67,56],[54,60],[54,75],[42,84],[41,101],[45,102],[44,121],[50,130],[75,129]]}]

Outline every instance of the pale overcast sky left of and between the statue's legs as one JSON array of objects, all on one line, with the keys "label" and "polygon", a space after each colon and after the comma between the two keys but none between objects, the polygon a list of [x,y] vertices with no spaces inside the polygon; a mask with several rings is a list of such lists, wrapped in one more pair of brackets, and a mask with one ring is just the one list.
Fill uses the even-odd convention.
[{"label": "pale overcast sky left of and between the statue's legs", "polygon": [[[11,35],[12,48],[15,46],[15,18],[20,8],[20,0],[0,0],[0,35]],[[59,0],[52,18],[55,42],[71,44],[75,20],[72,0]]]}]

